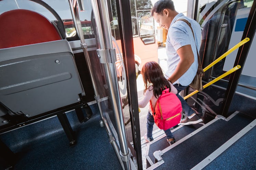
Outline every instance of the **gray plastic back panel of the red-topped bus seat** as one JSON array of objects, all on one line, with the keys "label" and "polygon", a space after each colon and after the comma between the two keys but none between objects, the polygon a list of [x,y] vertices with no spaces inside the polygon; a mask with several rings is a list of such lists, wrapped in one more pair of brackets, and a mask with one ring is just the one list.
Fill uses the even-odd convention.
[{"label": "gray plastic back panel of the red-topped bus seat", "polygon": [[27,117],[80,101],[83,93],[66,40],[0,49],[0,101]]}]

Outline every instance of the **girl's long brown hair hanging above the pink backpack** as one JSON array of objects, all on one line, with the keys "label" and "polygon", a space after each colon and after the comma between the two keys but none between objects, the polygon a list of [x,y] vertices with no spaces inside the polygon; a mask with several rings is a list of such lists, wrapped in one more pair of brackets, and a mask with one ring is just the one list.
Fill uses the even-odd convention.
[{"label": "girl's long brown hair hanging above the pink backpack", "polygon": [[171,91],[170,83],[165,79],[163,71],[157,62],[146,62],[141,69],[141,74],[144,81],[144,93],[151,84],[156,98],[158,98],[158,95],[162,95],[162,91],[166,88],[169,88],[169,91]]}]

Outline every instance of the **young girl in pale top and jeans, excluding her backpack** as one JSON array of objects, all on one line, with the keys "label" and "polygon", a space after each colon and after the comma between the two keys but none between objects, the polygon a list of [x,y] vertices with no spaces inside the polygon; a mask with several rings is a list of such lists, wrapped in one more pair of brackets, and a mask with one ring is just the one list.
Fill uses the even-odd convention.
[{"label": "young girl in pale top and jeans, excluding her backpack", "polygon": [[[145,63],[142,67],[141,74],[145,89],[144,98],[139,101],[139,108],[144,108],[149,101],[151,101],[153,112],[155,112],[157,98],[162,95],[162,91],[166,88],[169,88],[171,93],[177,94],[177,89],[167,79],[165,79],[163,71],[157,62],[150,61]],[[147,119],[148,132],[144,135],[144,138],[146,141],[153,141],[152,131],[155,122],[151,109],[149,109]],[[170,145],[176,142],[170,129],[164,130],[164,132]]]}]

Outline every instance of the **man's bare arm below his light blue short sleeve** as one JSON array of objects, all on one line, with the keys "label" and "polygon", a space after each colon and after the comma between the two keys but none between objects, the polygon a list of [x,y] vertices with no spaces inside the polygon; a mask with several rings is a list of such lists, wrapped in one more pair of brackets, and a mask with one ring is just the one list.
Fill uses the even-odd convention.
[{"label": "man's bare arm below his light blue short sleeve", "polygon": [[177,50],[180,61],[174,73],[168,78],[171,83],[176,82],[194,62],[194,54],[191,45],[184,45]]}]

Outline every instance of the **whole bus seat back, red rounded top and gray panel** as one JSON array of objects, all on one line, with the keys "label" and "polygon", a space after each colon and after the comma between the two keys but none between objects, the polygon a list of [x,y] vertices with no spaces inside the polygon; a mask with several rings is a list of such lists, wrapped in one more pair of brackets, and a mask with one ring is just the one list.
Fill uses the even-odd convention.
[{"label": "whole bus seat back, red rounded top and gray panel", "polygon": [[79,102],[83,90],[72,49],[51,22],[20,9],[1,14],[3,22],[0,101],[27,117]]}]

